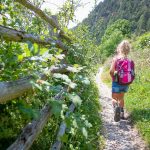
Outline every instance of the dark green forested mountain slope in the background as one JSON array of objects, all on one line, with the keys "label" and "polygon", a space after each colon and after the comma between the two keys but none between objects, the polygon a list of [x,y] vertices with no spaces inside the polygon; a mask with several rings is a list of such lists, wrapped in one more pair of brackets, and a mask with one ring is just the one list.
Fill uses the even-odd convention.
[{"label": "dark green forested mountain slope in the background", "polygon": [[104,0],[89,14],[83,23],[89,26],[93,37],[100,42],[105,29],[118,19],[131,23],[133,33],[150,30],[150,0]]}]

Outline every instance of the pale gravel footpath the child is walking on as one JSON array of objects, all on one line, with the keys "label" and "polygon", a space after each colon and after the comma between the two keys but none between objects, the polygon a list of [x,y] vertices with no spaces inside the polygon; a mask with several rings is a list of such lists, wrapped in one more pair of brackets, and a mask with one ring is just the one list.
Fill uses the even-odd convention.
[{"label": "pale gravel footpath the child is walking on", "polygon": [[[131,126],[130,120],[115,122],[111,103],[111,89],[100,78],[103,68],[96,75],[96,83],[100,92],[100,104],[102,106],[103,137],[106,140],[104,150],[148,150],[139,136],[138,131]],[[128,114],[125,112],[125,117]]]}]

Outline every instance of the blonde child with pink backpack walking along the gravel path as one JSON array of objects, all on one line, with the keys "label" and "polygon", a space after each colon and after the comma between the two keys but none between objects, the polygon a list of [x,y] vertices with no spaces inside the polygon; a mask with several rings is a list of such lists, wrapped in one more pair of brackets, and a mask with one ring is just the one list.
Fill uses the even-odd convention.
[{"label": "blonde child with pink backpack walking along the gravel path", "polygon": [[113,58],[110,75],[112,77],[112,105],[114,107],[114,120],[124,118],[124,95],[129,84],[134,80],[134,62],[128,59],[130,43],[123,40],[117,47],[117,55]]}]

